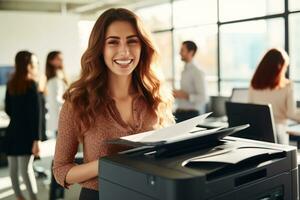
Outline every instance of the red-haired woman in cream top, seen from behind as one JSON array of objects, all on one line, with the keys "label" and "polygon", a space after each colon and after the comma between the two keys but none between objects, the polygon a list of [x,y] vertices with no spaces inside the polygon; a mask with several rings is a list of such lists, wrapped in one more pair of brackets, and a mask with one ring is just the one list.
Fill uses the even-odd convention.
[{"label": "red-haired woman in cream top, seen from behind", "polygon": [[289,144],[285,130],[287,119],[300,122],[293,83],[285,76],[288,65],[289,57],[284,50],[270,49],[260,61],[249,90],[251,103],[272,105],[277,139],[281,144]]}]

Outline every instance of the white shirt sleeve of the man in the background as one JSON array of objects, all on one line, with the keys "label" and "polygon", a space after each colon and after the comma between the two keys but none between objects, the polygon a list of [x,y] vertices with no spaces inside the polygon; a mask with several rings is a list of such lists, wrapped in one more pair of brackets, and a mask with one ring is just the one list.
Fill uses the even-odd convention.
[{"label": "white shirt sleeve of the man in the background", "polygon": [[195,93],[189,94],[189,100],[198,105],[204,105],[207,102],[207,91],[205,74],[200,70],[194,70],[193,83],[195,85]]}]

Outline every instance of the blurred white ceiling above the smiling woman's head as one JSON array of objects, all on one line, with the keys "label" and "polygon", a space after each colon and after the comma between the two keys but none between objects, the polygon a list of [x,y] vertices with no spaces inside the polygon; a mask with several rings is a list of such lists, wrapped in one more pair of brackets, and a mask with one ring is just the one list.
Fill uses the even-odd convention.
[{"label": "blurred white ceiling above the smiling woman's head", "polygon": [[74,13],[93,17],[111,7],[135,9],[170,0],[0,0],[0,11]]}]

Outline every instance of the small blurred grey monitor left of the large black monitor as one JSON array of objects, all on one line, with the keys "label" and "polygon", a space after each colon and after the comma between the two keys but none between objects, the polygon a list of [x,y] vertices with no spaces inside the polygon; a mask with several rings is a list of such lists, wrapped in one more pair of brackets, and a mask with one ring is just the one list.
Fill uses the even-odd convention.
[{"label": "small blurred grey monitor left of the large black monitor", "polygon": [[209,112],[212,112],[211,117],[223,117],[226,115],[225,102],[229,101],[230,97],[225,96],[210,96]]}]

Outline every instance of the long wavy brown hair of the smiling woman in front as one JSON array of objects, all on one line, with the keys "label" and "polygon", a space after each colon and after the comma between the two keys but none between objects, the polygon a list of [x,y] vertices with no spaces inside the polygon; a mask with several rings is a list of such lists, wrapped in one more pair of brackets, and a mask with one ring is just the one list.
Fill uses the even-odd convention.
[{"label": "long wavy brown hair of the smiling woman in front", "polygon": [[108,68],[104,62],[103,50],[107,28],[115,21],[129,22],[141,41],[140,60],[132,75],[134,87],[156,113],[160,126],[173,123],[172,95],[163,91],[162,82],[153,68],[157,50],[140,19],[123,8],[108,9],[96,21],[88,48],[81,58],[80,78],[66,91],[65,100],[71,103],[80,124],[84,124],[84,129],[88,130],[95,123],[101,106],[107,102]]}]

